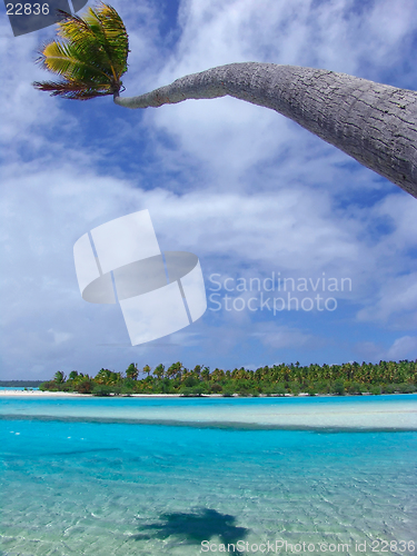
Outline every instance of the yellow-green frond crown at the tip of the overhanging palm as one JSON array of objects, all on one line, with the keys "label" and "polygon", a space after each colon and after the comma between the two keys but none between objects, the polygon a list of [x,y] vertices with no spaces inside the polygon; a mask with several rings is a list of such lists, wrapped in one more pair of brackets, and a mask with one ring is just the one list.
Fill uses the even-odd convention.
[{"label": "yellow-green frond crown at the tip of the overhanging palm", "polygon": [[83,19],[59,11],[60,40],[46,44],[38,62],[62,81],[36,81],[33,87],[77,100],[118,93],[129,53],[129,37],[118,12],[105,3],[89,8]]}]

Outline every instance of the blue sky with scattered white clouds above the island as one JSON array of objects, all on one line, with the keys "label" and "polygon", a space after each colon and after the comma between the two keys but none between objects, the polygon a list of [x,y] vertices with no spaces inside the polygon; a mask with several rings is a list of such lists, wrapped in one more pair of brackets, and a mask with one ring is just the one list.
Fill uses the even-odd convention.
[{"label": "blue sky with scattered white clouds above the island", "polygon": [[[126,96],[240,61],[417,88],[414,0],[112,6],[130,38]],[[415,198],[282,116],[236,99],[128,110],[110,97],[50,98],[31,82],[48,79],[33,60],[54,29],[14,38],[0,9],[0,379],[122,371],[132,361],[255,369],[417,357]],[[162,250],[199,257],[208,309],[132,347],[119,307],[81,299],[72,248],[91,228],[142,209]],[[282,297],[262,287],[274,274],[306,279],[308,290],[290,290],[298,310],[292,301],[274,315],[272,300],[260,310],[261,295]],[[314,291],[324,277],[339,290],[319,282]],[[252,291],[224,288],[244,278]],[[340,290],[342,278],[351,288]],[[332,298],[334,310],[302,310],[317,295],[321,306]]]}]

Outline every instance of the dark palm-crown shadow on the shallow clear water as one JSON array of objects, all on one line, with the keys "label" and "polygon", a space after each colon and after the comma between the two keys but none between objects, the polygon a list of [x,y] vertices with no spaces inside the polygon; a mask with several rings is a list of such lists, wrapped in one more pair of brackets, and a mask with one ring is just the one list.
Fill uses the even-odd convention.
[{"label": "dark palm-crown shadow on the shallow clear water", "polygon": [[[163,540],[176,536],[188,545],[200,545],[202,540],[210,540],[217,536],[220,537],[222,544],[227,544],[244,539],[249,532],[245,527],[235,525],[236,517],[220,514],[216,509],[201,508],[192,514],[162,514],[160,520],[162,523],[145,525],[143,533],[132,535],[131,538],[135,540],[150,538]],[[145,533],[146,530],[149,533]]]}]

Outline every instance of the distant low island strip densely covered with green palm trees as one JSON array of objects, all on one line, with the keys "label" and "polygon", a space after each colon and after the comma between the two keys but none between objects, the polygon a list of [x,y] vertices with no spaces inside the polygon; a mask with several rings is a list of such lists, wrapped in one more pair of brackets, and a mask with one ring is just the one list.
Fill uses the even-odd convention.
[{"label": "distant low island strip densely covered with green palm trees", "polygon": [[[142,375],[142,378],[139,378]],[[8,385],[11,381],[8,383]],[[17,383],[23,383],[14,380]],[[24,381],[24,384],[29,384]],[[31,383],[34,385],[34,381]],[[244,367],[234,370],[197,365],[188,369],[180,361],[166,369],[158,365],[139,368],[130,364],[126,373],[115,373],[102,368],[95,377],[72,370],[68,378],[58,370],[51,380],[39,384],[43,391],[73,391],[95,396],[132,394],[177,394],[182,396],[298,396],[316,395],[378,395],[413,394],[417,391],[416,361],[379,361],[379,364],[359,365],[272,365],[247,370]]]}]

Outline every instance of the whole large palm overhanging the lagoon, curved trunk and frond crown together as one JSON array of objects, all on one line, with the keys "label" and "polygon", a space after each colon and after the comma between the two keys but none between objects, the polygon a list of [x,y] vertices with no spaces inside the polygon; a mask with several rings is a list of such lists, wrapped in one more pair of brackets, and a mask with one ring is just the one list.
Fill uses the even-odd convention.
[{"label": "whole large palm overhanging the lagoon, curved trunk and frond crown together", "polygon": [[128,34],[113,8],[99,4],[82,20],[58,23],[68,42],[51,42],[43,66],[63,82],[34,87],[70,99],[113,95],[126,108],[160,107],[187,99],[230,96],[296,121],[358,162],[417,197],[417,92],[315,68],[242,62],[177,79],[139,97],[121,98]]}]

